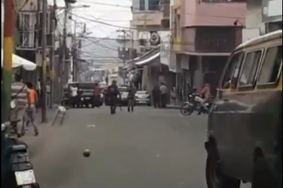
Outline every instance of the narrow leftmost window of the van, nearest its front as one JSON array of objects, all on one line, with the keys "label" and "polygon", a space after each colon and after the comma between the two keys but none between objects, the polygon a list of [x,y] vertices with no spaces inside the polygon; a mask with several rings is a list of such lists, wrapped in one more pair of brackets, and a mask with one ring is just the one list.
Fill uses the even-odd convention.
[{"label": "narrow leftmost window of the van, nearest its front", "polygon": [[228,68],[225,71],[225,76],[222,81],[223,89],[228,89],[231,83],[234,85],[237,82],[242,60],[243,60],[243,52],[234,53],[232,55],[232,58],[230,58],[230,62],[228,62],[229,63]]}]

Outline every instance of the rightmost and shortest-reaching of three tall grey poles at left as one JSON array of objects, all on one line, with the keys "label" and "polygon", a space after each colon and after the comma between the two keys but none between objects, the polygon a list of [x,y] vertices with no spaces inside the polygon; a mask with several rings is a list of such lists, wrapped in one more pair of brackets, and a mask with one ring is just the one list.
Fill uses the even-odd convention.
[{"label": "rightmost and shortest-reaching of three tall grey poles at left", "polygon": [[64,12],[64,28],[63,28],[63,58],[61,62],[61,83],[60,83],[60,90],[61,95],[64,95],[64,80],[65,80],[65,63],[66,63],[66,53],[67,53],[67,16],[69,12],[69,4],[65,2],[65,12]]}]

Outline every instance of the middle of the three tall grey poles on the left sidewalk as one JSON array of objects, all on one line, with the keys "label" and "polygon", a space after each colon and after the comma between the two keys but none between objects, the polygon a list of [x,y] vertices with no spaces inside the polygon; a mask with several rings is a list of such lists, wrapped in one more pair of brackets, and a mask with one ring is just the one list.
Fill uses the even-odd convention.
[{"label": "middle of the three tall grey poles on the left sidewalk", "polygon": [[56,0],[53,0],[53,10],[51,12],[51,40],[52,40],[52,46],[50,49],[50,55],[49,55],[49,59],[50,59],[50,72],[51,72],[51,83],[50,83],[50,102],[49,102],[49,108],[52,109],[52,105],[53,105],[53,96],[54,96],[54,48],[55,48],[55,13],[56,13],[56,8],[57,8],[57,2]]}]

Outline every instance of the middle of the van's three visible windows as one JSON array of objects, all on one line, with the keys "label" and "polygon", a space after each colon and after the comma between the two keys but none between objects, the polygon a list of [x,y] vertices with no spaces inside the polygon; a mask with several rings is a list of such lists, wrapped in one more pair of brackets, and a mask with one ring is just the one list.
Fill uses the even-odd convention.
[{"label": "middle of the van's three visible windows", "polygon": [[239,86],[248,86],[255,83],[255,76],[257,73],[257,67],[261,59],[262,51],[252,51],[246,54],[246,58],[243,62],[243,71],[239,77]]}]

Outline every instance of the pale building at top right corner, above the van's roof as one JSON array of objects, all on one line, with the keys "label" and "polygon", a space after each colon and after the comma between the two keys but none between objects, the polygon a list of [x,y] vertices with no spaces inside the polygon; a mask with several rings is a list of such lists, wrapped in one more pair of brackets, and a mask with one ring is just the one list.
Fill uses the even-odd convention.
[{"label": "pale building at top right corner, above the van's roof", "polygon": [[230,0],[246,3],[243,42],[282,29],[282,0]]}]

